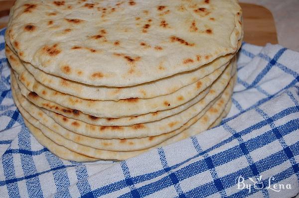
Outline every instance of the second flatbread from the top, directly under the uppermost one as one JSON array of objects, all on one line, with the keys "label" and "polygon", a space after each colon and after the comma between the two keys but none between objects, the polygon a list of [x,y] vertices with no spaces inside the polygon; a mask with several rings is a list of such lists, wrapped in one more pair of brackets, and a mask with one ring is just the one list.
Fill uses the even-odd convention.
[{"label": "second flatbread from the top, directly under the uppermost one", "polygon": [[[27,79],[30,79],[32,75],[36,81],[48,88],[76,96],[81,99],[93,100],[119,100],[130,98],[148,99],[171,94],[182,87],[190,85],[213,73],[216,69],[219,69],[222,66],[225,67],[234,56],[234,54],[230,54],[224,57],[219,57],[213,62],[208,63],[197,70],[179,73],[157,81],[132,87],[116,88],[85,85],[47,74],[42,70],[33,67],[29,63],[21,62],[17,55],[15,55],[7,45],[5,46],[5,55],[8,61],[14,65],[14,68],[19,69],[17,73],[26,76]],[[23,66],[27,70],[23,69]]]}]

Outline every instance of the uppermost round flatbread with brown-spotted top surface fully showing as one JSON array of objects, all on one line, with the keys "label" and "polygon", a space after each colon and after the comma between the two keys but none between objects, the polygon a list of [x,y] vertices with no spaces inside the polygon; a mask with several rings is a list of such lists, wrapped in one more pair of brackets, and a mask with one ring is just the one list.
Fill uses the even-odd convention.
[{"label": "uppermost round flatbread with brown-spotted top surface fully showing", "polygon": [[44,72],[126,87],[234,53],[241,15],[237,0],[17,0],[7,34],[20,59]]}]

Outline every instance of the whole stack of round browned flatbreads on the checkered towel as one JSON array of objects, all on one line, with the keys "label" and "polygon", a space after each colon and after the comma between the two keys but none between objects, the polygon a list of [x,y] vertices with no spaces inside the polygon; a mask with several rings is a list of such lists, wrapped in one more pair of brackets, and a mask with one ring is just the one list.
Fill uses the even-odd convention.
[{"label": "whole stack of round browned flatbreads on the checkered towel", "polygon": [[124,160],[221,122],[242,38],[237,0],[17,0],[5,53],[42,145]]}]

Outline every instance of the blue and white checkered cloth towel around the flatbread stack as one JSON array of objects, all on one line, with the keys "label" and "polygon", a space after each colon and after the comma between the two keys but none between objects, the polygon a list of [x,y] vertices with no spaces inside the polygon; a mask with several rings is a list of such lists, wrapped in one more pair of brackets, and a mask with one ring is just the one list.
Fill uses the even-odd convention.
[{"label": "blue and white checkered cloth towel around the flatbread stack", "polygon": [[32,137],[10,91],[0,31],[0,197],[271,197],[299,193],[299,53],[244,43],[216,128],[123,162],[75,163]]}]

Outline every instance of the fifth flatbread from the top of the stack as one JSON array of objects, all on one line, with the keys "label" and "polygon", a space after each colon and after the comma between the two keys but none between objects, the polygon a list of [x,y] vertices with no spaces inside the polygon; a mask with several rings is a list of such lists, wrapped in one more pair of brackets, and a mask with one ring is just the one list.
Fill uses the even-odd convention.
[{"label": "fifth flatbread from the top of the stack", "polygon": [[[12,85],[14,86],[15,89],[18,89],[15,83],[14,76],[12,75],[11,78],[12,78]],[[233,89],[232,84],[229,84],[229,86],[225,89],[224,93],[226,92],[232,93],[232,89]],[[205,97],[198,103],[192,105],[188,109],[178,114],[166,117],[158,121],[142,123],[133,126],[96,126],[96,125],[87,124],[80,120],[67,118],[63,115],[45,109],[43,111],[47,113],[47,115],[53,118],[61,126],[69,129],[70,131],[74,131],[78,134],[82,134],[90,137],[105,138],[105,139],[111,139],[111,138],[124,139],[124,138],[136,138],[136,137],[140,138],[140,137],[147,137],[147,136],[157,136],[160,134],[169,133],[174,130],[176,130],[175,133],[182,131],[184,129],[182,127],[190,125],[189,121],[191,120],[191,118],[198,117],[199,116],[198,113],[200,113],[207,105],[209,105],[209,103],[213,99],[215,99],[218,95],[220,95],[223,89],[216,90],[216,91],[210,93],[209,95],[207,95],[207,97]],[[226,95],[226,97],[229,96],[230,94]],[[33,107],[29,107],[29,109],[31,110],[32,108]],[[35,115],[34,117],[41,117],[41,115]],[[151,142],[155,142],[153,141],[153,138],[149,138],[149,140]]]}]

